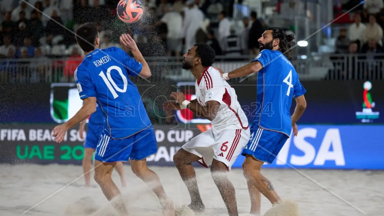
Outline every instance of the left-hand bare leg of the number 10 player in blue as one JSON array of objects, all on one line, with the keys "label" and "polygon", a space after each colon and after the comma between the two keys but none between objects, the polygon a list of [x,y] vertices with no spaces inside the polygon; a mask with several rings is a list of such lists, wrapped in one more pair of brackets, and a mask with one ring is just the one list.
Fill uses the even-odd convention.
[{"label": "left-hand bare leg of the number 10 player in blue", "polygon": [[111,175],[114,166],[114,163],[103,163],[101,161],[95,160],[95,180],[99,184],[101,190],[103,191],[105,197],[112,201],[113,207],[118,211],[121,216],[128,216],[128,211],[124,205],[124,202],[121,197],[121,193],[112,181]]}]

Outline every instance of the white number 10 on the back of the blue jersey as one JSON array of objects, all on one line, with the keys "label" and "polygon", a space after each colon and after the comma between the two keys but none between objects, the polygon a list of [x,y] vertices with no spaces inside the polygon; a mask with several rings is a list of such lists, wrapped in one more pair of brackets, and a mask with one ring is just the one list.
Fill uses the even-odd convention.
[{"label": "white number 10 on the back of the blue jersey", "polygon": [[[111,76],[111,72],[113,70],[118,71],[119,75],[121,76],[121,79],[123,81],[123,86],[122,86],[123,88],[120,88],[118,85],[116,85],[115,81],[113,81]],[[109,91],[111,91],[114,99],[116,99],[119,96],[118,93],[116,93],[116,91],[121,93],[125,93],[127,91],[128,80],[127,80],[127,77],[124,75],[124,73],[122,73],[122,70],[120,67],[116,65],[110,66],[107,69],[107,76],[105,76],[104,71],[101,71],[99,73],[99,76],[101,76],[105,85],[107,85]]]}]

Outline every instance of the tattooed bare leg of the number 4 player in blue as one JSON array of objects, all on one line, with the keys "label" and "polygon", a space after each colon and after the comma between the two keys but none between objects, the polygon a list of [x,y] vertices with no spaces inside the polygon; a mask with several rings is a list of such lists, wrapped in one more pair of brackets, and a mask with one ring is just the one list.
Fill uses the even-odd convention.
[{"label": "tattooed bare leg of the number 4 player in blue", "polygon": [[256,160],[251,155],[247,155],[244,163],[245,178],[249,179],[258,191],[260,191],[272,204],[281,203],[280,196],[276,193],[272,183],[260,173],[263,162]]}]

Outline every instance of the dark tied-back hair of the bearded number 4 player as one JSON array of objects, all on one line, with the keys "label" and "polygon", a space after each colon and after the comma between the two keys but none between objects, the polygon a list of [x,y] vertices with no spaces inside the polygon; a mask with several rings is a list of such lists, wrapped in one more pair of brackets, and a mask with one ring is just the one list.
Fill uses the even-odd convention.
[{"label": "dark tied-back hair of the bearded number 4 player", "polygon": [[282,28],[273,27],[273,28],[267,28],[266,31],[267,30],[272,31],[273,40],[277,38],[280,40],[279,42],[280,51],[285,55],[286,58],[288,58],[288,60],[291,60],[292,59],[291,48],[293,44],[296,43],[295,35],[293,34],[286,35]]}]

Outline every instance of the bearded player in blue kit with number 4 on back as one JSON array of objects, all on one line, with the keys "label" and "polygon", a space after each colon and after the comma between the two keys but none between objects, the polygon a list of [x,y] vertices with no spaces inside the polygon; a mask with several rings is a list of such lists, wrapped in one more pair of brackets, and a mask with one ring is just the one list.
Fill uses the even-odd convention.
[{"label": "bearded player in blue kit with number 4 on back", "polygon": [[[264,163],[271,164],[275,160],[292,128],[293,135],[297,135],[296,122],[306,108],[306,90],[290,62],[294,36],[286,35],[281,28],[268,28],[258,42],[260,53],[251,63],[223,74],[228,80],[257,73],[257,104],[260,107],[252,123],[250,141],[242,152],[246,157],[243,173],[251,197],[251,214],[260,214],[259,191],[273,206],[282,202],[260,169]],[[291,116],[292,98],[296,100],[296,108]],[[274,211],[273,208],[270,211]]]}]

